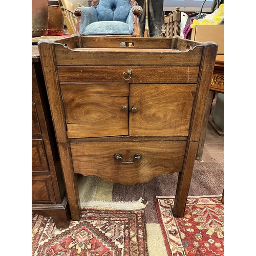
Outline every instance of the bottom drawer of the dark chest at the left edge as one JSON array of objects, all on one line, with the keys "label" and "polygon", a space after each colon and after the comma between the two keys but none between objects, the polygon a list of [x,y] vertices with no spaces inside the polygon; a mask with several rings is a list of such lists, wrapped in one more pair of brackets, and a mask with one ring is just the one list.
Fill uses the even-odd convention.
[{"label": "bottom drawer of the dark chest at the left edge", "polygon": [[32,204],[51,203],[56,203],[51,176],[32,176]]}]

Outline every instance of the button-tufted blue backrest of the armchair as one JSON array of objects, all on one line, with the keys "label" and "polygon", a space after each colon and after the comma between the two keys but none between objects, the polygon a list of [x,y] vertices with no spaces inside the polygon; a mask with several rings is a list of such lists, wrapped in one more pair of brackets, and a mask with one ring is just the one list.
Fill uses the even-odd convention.
[{"label": "button-tufted blue backrest of the armchair", "polygon": [[129,0],[100,0],[95,8],[99,22],[114,20],[125,23],[132,6]]}]

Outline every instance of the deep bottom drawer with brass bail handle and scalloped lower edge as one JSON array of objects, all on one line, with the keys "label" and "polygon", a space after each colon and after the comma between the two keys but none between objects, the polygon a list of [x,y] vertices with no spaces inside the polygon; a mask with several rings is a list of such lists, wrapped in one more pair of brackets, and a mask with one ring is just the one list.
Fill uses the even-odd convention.
[{"label": "deep bottom drawer with brass bail handle and scalloped lower edge", "polygon": [[121,184],[181,172],[186,141],[70,142],[74,172]]}]

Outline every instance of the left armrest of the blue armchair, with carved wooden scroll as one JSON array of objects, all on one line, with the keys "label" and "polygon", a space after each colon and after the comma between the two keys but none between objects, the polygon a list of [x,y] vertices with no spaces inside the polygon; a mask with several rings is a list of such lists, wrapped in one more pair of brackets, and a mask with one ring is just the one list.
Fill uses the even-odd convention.
[{"label": "left armrest of the blue armchair, with carved wooden scroll", "polygon": [[80,31],[93,22],[98,22],[98,14],[95,7],[78,7],[74,10],[75,16],[77,16],[76,34],[80,34]]}]

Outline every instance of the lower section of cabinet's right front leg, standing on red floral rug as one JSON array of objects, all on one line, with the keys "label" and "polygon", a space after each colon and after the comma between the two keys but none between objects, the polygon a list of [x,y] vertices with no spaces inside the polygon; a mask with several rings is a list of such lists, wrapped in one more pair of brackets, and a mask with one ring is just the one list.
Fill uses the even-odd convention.
[{"label": "lower section of cabinet's right front leg, standing on red floral rug", "polygon": [[188,142],[188,148],[183,164],[182,172],[179,173],[176,195],[174,200],[173,215],[176,218],[184,216],[187,195],[192,177],[192,172],[197,154],[198,142]]}]

